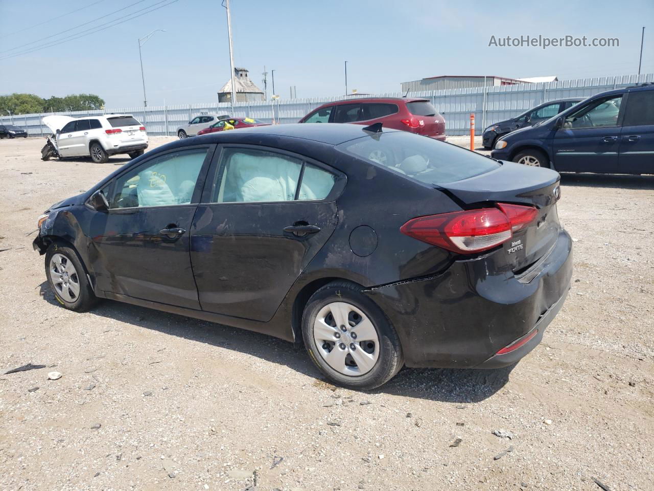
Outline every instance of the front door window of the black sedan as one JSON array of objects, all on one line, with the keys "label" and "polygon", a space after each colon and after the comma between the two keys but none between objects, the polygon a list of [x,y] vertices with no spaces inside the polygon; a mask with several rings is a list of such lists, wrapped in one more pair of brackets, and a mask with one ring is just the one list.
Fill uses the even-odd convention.
[{"label": "front door window of the black sedan", "polygon": [[116,179],[109,208],[189,204],[207,149],[167,153]]}]

